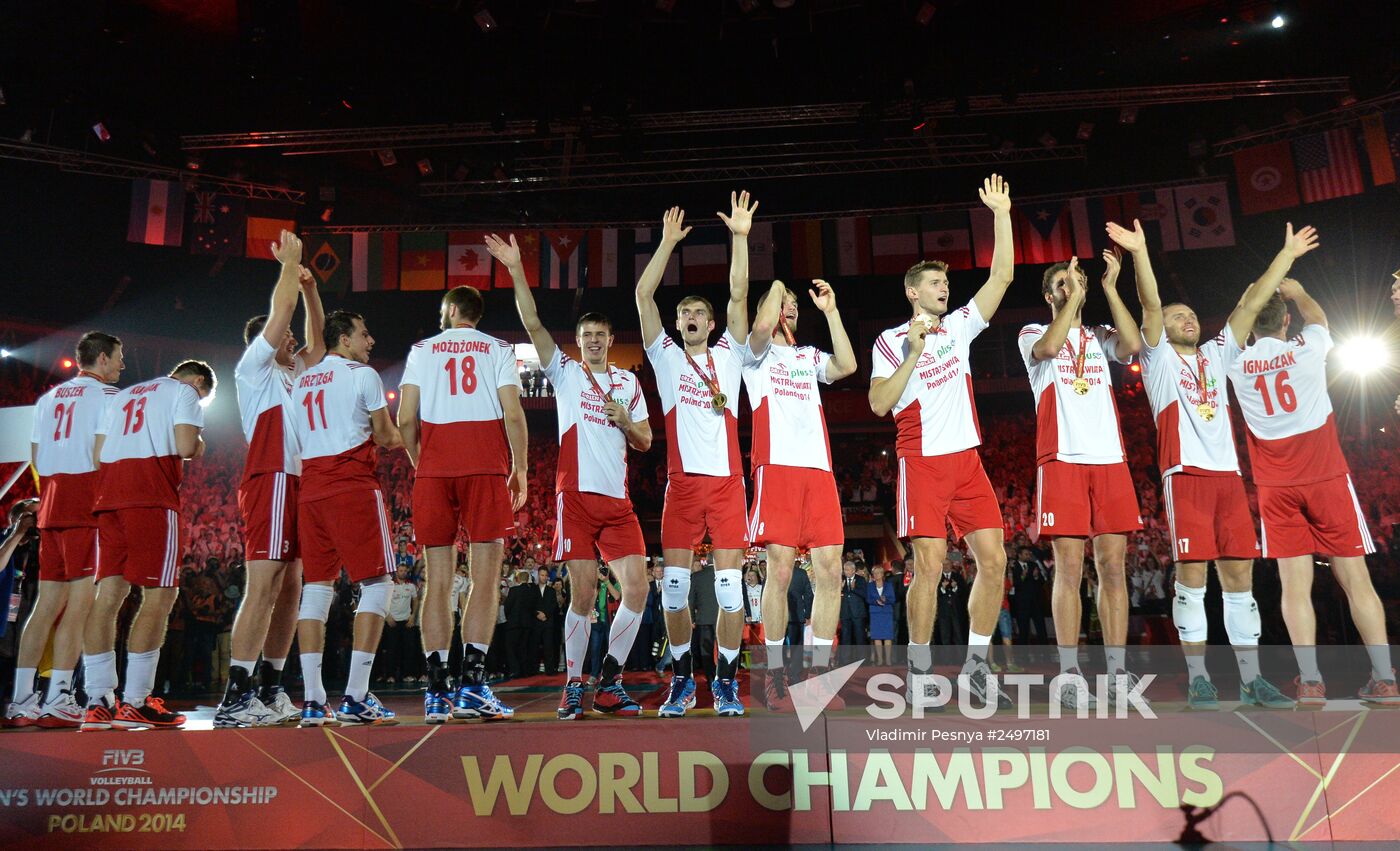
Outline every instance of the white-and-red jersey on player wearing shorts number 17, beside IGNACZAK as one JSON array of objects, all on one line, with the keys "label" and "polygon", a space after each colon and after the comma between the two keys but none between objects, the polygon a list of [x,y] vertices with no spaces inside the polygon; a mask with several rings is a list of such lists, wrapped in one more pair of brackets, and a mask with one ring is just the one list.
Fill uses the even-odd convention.
[{"label": "white-and-red jersey on player wearing shorts number 17, beside IGNACZAK", "polygon": [[[1155,346],[1142,339],[1142,384],[1156,421],[1156,466],[1163,476],[1182,470],[1239,473],[1225,392],[1226,371],[1239,353],[1229,323],[1214,340],[1201,343],[1196,356],[1172,349],[1165,332]],[[1210,420],[1201,414],[1201,405],[1208,406]]]}]

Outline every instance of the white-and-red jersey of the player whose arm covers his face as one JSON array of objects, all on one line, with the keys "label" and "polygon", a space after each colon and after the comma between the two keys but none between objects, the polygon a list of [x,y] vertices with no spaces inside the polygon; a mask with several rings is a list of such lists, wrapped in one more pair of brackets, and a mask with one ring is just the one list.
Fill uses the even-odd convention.
[{"label": "white-and-red jersey of the player whose arm covers his face", "polygon": [[812,346],[770,342],[755,357],[743,347],[743,386],[753,407],[753,467],[770,463],[832,470],[832,444],[816,382],[832,384],[832,356]]}]

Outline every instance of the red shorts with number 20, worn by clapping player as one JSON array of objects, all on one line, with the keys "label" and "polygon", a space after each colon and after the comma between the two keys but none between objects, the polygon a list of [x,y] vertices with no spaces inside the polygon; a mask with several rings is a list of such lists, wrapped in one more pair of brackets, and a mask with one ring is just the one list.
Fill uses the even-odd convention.
[{"label": "red shorts with number 20, worn by clapping player", "polygon": [[1047,460],[1036,470],[1032,540],[1123,535],[1141,528],[1127,463]]}]

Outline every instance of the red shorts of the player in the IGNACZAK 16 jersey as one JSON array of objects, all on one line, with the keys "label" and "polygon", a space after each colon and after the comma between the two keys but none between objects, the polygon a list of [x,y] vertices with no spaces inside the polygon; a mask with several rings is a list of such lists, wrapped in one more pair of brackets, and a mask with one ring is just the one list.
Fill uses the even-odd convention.
[{"label": "red shorts of the player in the IGNACZAK 16 jersey", "polygon": [[1369,556],[1376,551],[1351,476],[1259,490],[1264,557]]}]

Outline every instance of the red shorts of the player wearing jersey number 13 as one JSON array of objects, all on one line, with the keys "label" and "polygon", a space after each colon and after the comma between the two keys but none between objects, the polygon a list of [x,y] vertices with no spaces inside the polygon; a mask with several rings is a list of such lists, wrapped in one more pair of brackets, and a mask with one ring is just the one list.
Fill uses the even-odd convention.
[{"label": "red shorts of the player wearing jersey number 13", "polygon": [[186,543],[178,511],[104,511],[97,515],[97,579],[122,577],[143,588],[175,588]]}]

